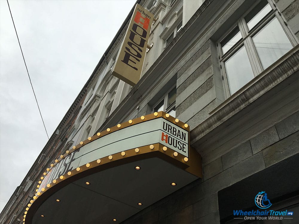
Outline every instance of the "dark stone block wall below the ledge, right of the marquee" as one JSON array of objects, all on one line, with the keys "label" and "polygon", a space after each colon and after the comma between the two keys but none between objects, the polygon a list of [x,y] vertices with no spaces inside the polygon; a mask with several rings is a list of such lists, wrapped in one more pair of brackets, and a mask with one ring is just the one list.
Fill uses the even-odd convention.
[{"label": "dark stone block wall below the ledge, right of the marquee", "polygon": [[203,179],[197,179],[123,223],[219,223],[218,191],[299,153],[298,120],[299,112],[296,112],[215,158],[203,167]]}]

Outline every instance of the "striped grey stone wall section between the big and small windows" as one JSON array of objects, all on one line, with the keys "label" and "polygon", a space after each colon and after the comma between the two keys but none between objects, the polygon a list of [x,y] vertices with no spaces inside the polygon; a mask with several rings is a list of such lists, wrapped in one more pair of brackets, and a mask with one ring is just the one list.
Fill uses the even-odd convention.
[{"label": "striped grey stone wall section between the big and small windows", "polygon": [[217,86],[217,80],[208,40],[178,71],[176,117],[190,124],[191,129],[204,121],[218,105],[216,89],[222,89],[222,83]]}]

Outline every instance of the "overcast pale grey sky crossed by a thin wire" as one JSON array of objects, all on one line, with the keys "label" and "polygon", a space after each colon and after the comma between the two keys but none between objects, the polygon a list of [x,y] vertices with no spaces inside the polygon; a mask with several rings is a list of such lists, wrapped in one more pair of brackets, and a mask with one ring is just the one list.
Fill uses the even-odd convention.
[{"label": "overcast pale grey sky crossed by a thin wire", "polygon": [[[52,135],[135,0],[8,1]],[[0,0],[0,212],[46,136],[6,0]]]}]

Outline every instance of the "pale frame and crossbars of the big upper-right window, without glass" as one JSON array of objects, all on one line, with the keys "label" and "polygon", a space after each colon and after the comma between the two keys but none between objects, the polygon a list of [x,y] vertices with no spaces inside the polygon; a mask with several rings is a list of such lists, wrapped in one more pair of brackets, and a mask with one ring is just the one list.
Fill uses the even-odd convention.
[{"label": "pale frame and crossbars of the big upper-right window, without glass", "polygon": [[[248,54],[248,58],[250,61],[250,65],[252,67],[254,77],[259,75],[263,70],[262,63],[260,61],[260,57],[258,56],[256,47],[254,46],[254,42],[252,40],[252,36],[254,36],[256,33],[258,33],[263,27],[265,27],[271,19],[276,17],[278,21],[280,22],[281,27],[285,31],[287,37],[289,38],[290,42],[292,43],[293,47],[297,45],[297,41],[295,38],[295,35],[292,33],[292,31],[289,29],[289,27],[286,25],[286,22],[281,16],[281,13],[277,10],[275,4],[273,4],[272,0],[266,0],[268,1],[269,5],[272,8],[272,11],[267,14],[263,19],[261,19],[251,30],[248,29],[247,23],[245,21],[245,16],[248,15],[248,13],[251,12],[251,10],[254,9],[262,0],[259,0],[255,2],[238,20],[237,22],[222,36],[221,39],[217,42],[217,51],[219,55],[219,63],[220,63],[220,70],[222,75],[222,83],[223,83],[223,89],[225,94],[225,99],[231,96],[230,90],[229,90],[229,83],[228,83],[228,77],[227,73],[225,71],[225,61],[229,59],[231,56],[234,55],[234,53],[237,52],[242,46],[245,46],[246,52]],[[242,39],[239,40],[233,47],[231,47],[225,54],[222,53],[222,47],[221,42],[236,28],[238,27]],[[242,88],[242,87],[240,87]],[[237,91],[238,92],[238,91]],[[237,93],[236,92],[236,93]]]}]

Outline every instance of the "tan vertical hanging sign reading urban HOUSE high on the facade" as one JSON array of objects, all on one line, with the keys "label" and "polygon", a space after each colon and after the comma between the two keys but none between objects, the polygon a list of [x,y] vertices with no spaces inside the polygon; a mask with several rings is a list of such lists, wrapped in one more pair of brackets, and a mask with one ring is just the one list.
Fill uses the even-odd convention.
[{"label": "tan vertical hanging sign reading urban HOUSE high on the facade", "polygon": [[153,18],[152,13],[136,4],[112,70],[112,75],[129,85],[134,86],[140,79]]}]

